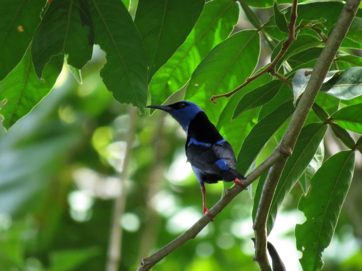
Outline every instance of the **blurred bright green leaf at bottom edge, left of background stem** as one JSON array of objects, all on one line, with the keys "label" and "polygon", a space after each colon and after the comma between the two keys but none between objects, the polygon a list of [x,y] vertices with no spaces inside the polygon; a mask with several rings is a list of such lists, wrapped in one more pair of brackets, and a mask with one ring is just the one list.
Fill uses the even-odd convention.
[{"label": "blurred bright green leaf at bottom edge, left of background stem", "polygon": [[75,270],[88,259],[100,254],[97,247],[85,249],[67,249],[50,253],[51,271]]}]

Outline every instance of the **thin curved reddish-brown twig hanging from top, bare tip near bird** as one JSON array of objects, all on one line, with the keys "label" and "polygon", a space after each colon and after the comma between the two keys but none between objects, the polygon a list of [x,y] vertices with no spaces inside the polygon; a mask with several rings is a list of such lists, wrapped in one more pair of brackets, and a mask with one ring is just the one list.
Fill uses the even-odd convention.
[{"label": "thin curved reddish-brown twig hanging from top, bare tip near bird", "polygon": [[230,91],[229,93],[225,93],[225,94],[220,94],[220,95],[212,95],[211,98],[210,98],[212,103],[216,104],[217,102],[215,101],[215,99],[218,99],[218,98],[221,98],[221,97],[229,98],[231,95],[233,95],[237,91],[241,90],[243,87],[245,87],[246,85],[248,85],[249,83],[251,83],[252,81],[257,79],[258,77],[262,76],[263,74],[270,73],[270,72],[273,73],[275,71],[275,66],[277,65],[279,60],[283,57],[283,55],[286,53],[288,48],[291,46],[291,44],[295,40],[294,27],[295,27],[295,21],[296,21],[296,18],[297,18],[297,14],[296,14],[297,4],[298,4],[298,0],[293,0],[291,13],[290,13],[290,22],[289,22],[289,25],[288,25],[289,35],[288,35],[288,38],[285,40],[285,42],[283,42],[282,48],[280,49],[277,56],[275,56],[273,61],[271,61],[269,63],[269,65],[266,66],[265,69],[262,70],[261,72],[258,72],[256,74],[254,74],[252,77],[248,77],[247,80],[241,86],[237,87],[233,91]]}]

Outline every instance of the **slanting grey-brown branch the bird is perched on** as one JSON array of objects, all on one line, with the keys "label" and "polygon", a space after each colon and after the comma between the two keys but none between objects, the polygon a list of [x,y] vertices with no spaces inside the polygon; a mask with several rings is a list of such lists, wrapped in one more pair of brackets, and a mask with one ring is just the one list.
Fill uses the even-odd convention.
[{"label": "slanting grey-brown branch the bird is perched on", "polygon": [[182,233],[172,242],[152,254],[150,257],[142,259],[141,266],[138,271],[150,270],[152,266],[161,261],[161,259],[165,258],[172,251],[183,245],[188,240],[195,238],[198,233],[201,232],[201,230],[205,228],[205,226],[232,201],[233,198],[243,191],[246,186],[250,185],[253,181],[260,177],[262,173],[270,168],[281,157],[283,157],[283,154],[279,152],[279,150],[275,150],[263,163],[261,163],[247,176],[247,180],[243,181],[243,187],[235,185],[232,188],[225,190],[224,196],[209,210],[211,215],[204,215],[190,229]]}]

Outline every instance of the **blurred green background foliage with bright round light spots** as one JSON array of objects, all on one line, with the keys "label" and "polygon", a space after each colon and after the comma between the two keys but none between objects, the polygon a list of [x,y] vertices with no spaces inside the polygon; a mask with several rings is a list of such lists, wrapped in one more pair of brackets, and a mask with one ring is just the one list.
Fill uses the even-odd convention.
[{"label": "blurred green background foliage with bright round light spots", "polygon": [[[132,1],[131,12],[136,6]],[[273,9],[255,9],[266,22]],[[241,12],[235,31],[248,29]],[[360,51],[356,52],[360,54]],[[270,49],[262,44],[260,67]],[[360,54],[361,55],[361,54]],[[49,95],[8,132],[0,132],[0,270],[104,270],[114,198],[126,151],[130,106],[116,102],[99,76],[104,53],[94,47],[79,85],[66,65]],[[169,98],[182,99],[184,90]],[[119,270],[168,244],[202,216],[201,192],[186,163],[185,134],[163,112],[136,114]],[[328,156],[340,151],[330,131]],[[258,159],[275,147],[270,141]],[[361,155],[323,270],[362,270]],[[256,186],[253,186],[253,189]],[[223,184],[207,186],[211,207]],[[287,270],[300,270],[294,226],[302,188],[296,185],[278,214],[269,241]],[[252,192],[253,194],[253,192]],[[194,239],[153,270],[258,270],[251,261],[253,201],[241,193]]]}]

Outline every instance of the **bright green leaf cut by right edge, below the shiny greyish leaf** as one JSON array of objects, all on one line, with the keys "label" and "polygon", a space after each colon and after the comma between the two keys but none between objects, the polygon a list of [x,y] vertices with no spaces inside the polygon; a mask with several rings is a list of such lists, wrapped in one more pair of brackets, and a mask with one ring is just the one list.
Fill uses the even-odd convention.
[{"label": "bright green leaf cut by right edge, below the shiny greyish leaf", "polygon": [[344,129],[362,134],[362,103],[341,108],[333,113],[331,120]]}]

